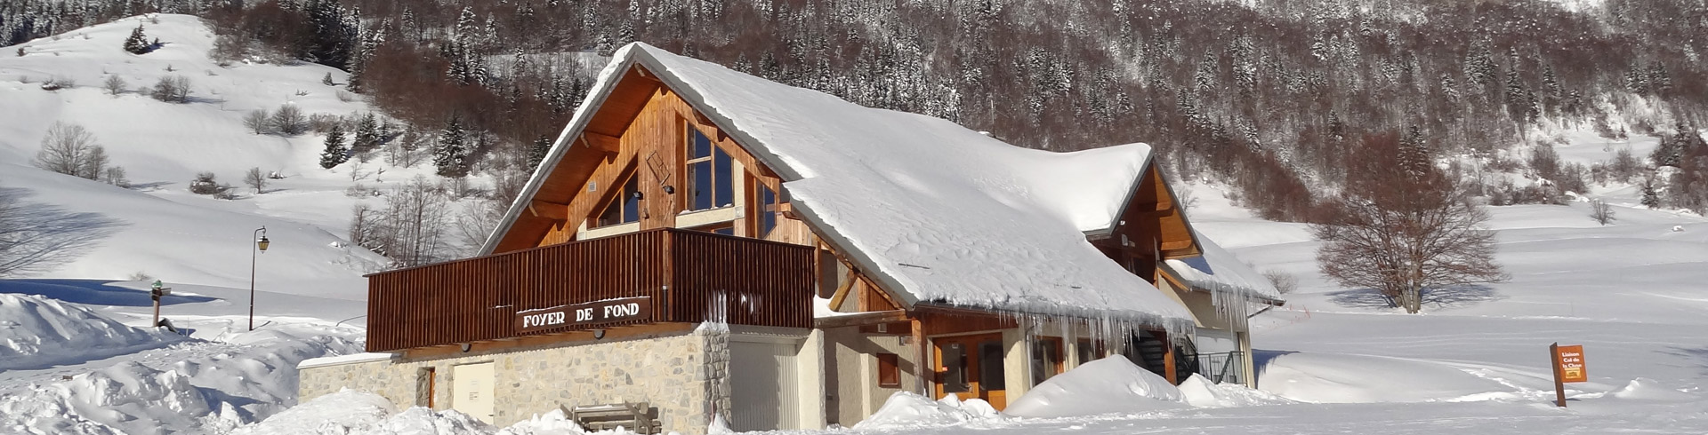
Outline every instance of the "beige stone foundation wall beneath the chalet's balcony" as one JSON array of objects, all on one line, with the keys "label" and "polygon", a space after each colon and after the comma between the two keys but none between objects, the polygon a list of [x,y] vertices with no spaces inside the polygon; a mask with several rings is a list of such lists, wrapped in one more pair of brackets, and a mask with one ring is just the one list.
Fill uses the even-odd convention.
[{"label": "beige stone foundation wall beneath the chalet's balcony", "polygon": [[[350,387],[398,409],[453,403],[453,367],[494,363],[494,425],[509,426],[559,406],[646,401],[664,432],[705,433],[712,409],[729,409],[729,333],[700,328],[615,341],[557,343],[442,358],[360,362],[302,368],[299,401]],[[434,368],[429,389],[424,368]],[[716,408],[714,408],[716,406]]]}]

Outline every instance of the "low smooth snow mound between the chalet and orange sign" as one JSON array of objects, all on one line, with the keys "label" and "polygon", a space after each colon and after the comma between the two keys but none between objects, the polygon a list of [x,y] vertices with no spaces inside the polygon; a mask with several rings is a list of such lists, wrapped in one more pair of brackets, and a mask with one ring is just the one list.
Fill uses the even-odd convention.
[{"label": "low smooth snow mound between the chalet and orange sign", "polygon": [[1443,363],[1283,353],[1257,375],[1262,389],[1303,403],[1421,403],[1508,397],[1512,387]]}]

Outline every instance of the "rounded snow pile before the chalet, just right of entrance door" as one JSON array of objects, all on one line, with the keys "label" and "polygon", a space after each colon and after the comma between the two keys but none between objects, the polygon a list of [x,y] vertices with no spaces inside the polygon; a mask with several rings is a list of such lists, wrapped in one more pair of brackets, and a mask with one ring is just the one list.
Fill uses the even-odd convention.
[{"label": "rounded snow pile before the chalet, just right of entrance door", "polygon": [[1124,357],[1108,357],[1044,380],[1003,413],[1052,418],[1177,408],[1185,408],[1180,389]]}]

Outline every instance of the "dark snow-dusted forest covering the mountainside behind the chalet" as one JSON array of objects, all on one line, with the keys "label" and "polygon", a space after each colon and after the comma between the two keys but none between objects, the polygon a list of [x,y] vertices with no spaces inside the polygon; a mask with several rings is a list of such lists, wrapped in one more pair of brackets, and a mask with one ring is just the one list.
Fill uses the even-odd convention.
[{"label": "dark snow-dusted forest covering the mountainside behind the chalet", "polygon": [[[454,125],[477,172],[528,172],[591,85],[576,60],[646,41],[1023,147],[1148,142],[1276,220],[1319,220],[1389,133],[1494,203],[1617,179],[1708,212],[1708,145],[1679,135],[1708,121],[1699,0],[0,0],[0,44],[142,12],[207,17],[219,58],[345,68],[412,130]],[[1563,128],[1667,140],[1583,167],[1551,160]]]}]

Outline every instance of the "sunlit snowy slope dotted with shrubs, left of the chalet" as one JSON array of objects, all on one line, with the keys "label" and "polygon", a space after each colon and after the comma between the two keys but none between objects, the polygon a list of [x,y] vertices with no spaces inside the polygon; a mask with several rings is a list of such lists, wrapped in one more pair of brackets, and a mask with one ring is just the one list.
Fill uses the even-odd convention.
[{"label": "sunlit snowy slope dotted with shrubs, left of the chalet", "polygon": [[[147,55],[120,49],[138,26],[162,46]],[[246,287],[254,229],[266,227],[272,247],[261,254],[256,281],[261,288],[362,300],[362,273],[384,263],[342,241],[350,206],[343,194],[352,184],[383,189],[430,169],[398,169],[371,162],[326,171],[318,165],[319,135],[254,135],[243,116],[282,104],[306,114],[352,114],[369,107],[342,87],[325,85],[319,65],[219,67],[208,60],[214,34],[190,15],[133,17],[99,24],[26,44],[24,56],[0,56],[0,188],[17,189],[26,201],[85,215],[92,229],[108,234],[87,254],[56,264],[43,276],[120,280],[147,275],[169,283]],[[15,48],[7,48],[12,53]],[[184,77],[190,102],[173,104],[137,92],[162,77]],[[109,77],[126,82],[109,96]],[[43,90],[41,82],[75,82]],[[56,123],[85,126],[125,167],[132,189],[51,174],[31,167],[46,130]],[[278,172],[265,193],[241,186],[244,171]],[[369,176],[352,181],[350,171]],[[196,172],[214,172],[237,186],[237,200],[214,200],[186,188]],[[284,290],[289,288],[289,290]]]}]

